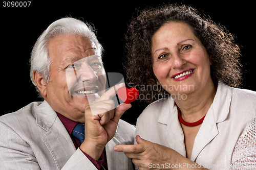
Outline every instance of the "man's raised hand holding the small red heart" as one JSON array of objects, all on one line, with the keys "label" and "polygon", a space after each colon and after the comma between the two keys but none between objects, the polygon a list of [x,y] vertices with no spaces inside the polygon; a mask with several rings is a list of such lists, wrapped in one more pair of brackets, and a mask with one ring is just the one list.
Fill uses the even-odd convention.
[{"label": "man's raised hand holding the small red heart", "polygon": [[[117,90],[124,86],[124,83],[113,86],[84,111],[86,137],[80,149],[95,160],[99,159],[106,143],[114,137],[122,114],[132,106],[123,103],[114,108],[114,101],[111,99]],[[91,110],[94,111],[93,114]]]}]

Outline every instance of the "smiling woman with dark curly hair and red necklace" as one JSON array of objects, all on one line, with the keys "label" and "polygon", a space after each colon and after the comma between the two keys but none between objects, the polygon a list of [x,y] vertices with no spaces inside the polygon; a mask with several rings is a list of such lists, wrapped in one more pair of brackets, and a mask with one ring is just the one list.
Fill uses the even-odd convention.
[{"label": "smiling woman with dark curly hair and red necklace", "polygon": [[[140,90],[151,104],[137,120],[138,144],[115,151],[140,169],[256,168],[256,93],[236,88],[231,34],[191,7],[164,6],[131,22],[127,49],[130,81],[159,88]],[[157,94],[168,96],[152,103]]]}]

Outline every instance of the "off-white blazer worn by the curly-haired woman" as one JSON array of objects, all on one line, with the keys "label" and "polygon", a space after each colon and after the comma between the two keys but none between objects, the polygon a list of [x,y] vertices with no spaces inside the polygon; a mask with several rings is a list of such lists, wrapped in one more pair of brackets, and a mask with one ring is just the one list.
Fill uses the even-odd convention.
[{"label": "off-white blazer worn by the curly-haired woman", "polygon": [[[209,169],[231,168],[238,139],[256,117],[256,92],[232,88],[219,83],[214,102],[210,106],[195,138],[191,160]],[[177,107],[172,98],[161,99],[146,107],[137,120],[137,133],[144,139],[165,145],[186,156],[184,135],[178,120]],[[256,158],[256,126],[247,148]],[[251,153],[251,151],[253,151]],[[246,157],[246,155],[245,155]],[[256,164],[254,162],[254,166]]]}]

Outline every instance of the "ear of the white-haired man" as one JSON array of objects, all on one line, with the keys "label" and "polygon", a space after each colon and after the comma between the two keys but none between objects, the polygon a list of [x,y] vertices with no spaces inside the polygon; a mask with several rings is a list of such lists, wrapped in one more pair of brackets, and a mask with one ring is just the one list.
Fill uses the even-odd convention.
[{"label": "ear of the white-haired man", "polygon": [[33,80],[38,88],[38,90],[41,93],[41,96],[45,99],[47,96],[47,91],[46,91],[46,82],[43,74],[39,74],[36,71],[33,71]]}]

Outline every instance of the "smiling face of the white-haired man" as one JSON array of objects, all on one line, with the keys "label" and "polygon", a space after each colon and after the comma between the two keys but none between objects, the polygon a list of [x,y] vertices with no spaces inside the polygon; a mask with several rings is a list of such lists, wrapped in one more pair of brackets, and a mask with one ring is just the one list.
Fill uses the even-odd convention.
[{"label": "smiling face of the white-haired man", "polygon": [[84,108],[104,92],[106,77],[96,45],[87,37],[54,37],[49,45],[50,81],[43,96],[58,113],[84,122]]}]

